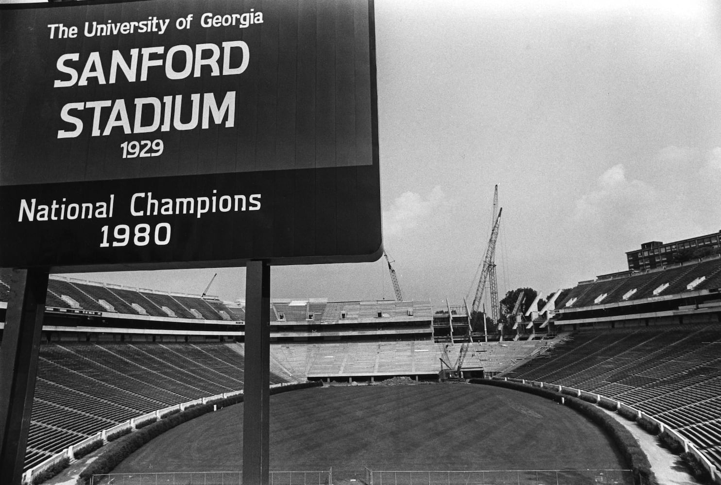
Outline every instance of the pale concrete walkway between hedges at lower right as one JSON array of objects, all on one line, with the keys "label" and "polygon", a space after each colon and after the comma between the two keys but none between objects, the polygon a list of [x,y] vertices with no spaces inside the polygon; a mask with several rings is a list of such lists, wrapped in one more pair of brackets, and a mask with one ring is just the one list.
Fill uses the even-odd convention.
[{"label": "pale concrete walkway between hedges at lower right", "polygon": [[[603,409],[598,407],[598,409]],[[651,463],[651,470],[656,475],[656,479],[660,485],[700,485],[701,482],[696,481],[688,472],[688,468],[681,461],[678,455],[674,455],[666,448],[663,448],[658,438],[645,432],[634,421],[629,421],[616,412],[603,409],[604,412],[610,414],[616,421],[620,422],[631,434],[636,438],[641,449],[646,453],[648,461]]]}]

